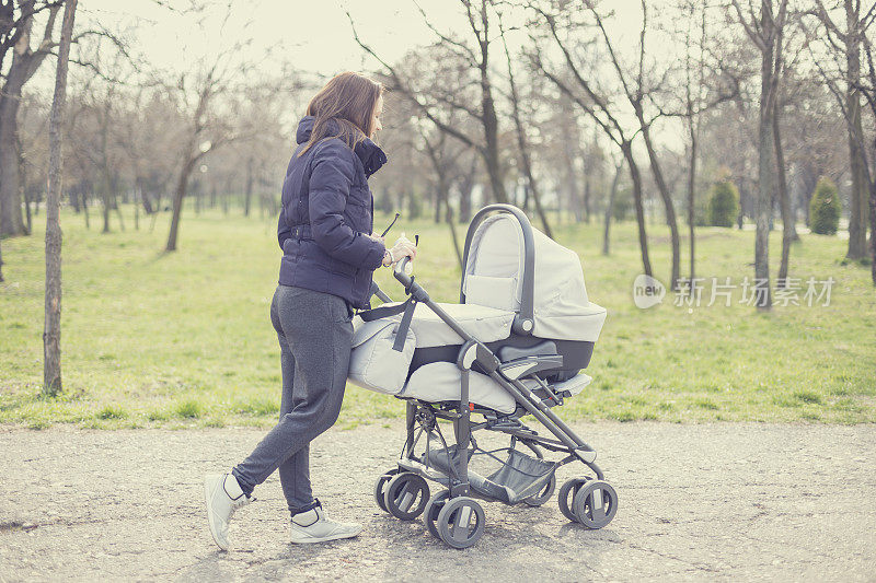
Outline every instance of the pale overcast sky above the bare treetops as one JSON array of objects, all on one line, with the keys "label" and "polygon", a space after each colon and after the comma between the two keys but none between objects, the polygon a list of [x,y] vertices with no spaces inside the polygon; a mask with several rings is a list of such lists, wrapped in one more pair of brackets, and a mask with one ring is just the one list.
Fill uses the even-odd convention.
[{"label": "pale overcast sky above the bare treetops", "polygon": [[[187,4],[186,0],[164,1],[171,7]],[[418,2],[436,27],[466,32],[459,2]],[[657,11],[662,3],[650,0],[649,5]],[[155,0],[83,0],[80,5],[80,18],[87,22],[112,28],[130,26],[136,50],[161,68],[184,68],[189,59],[221,50],[235,39],[251,38],[253,56],[273,49],[274,59],[263,62],[268,73],[283,61],[326,77],[374,69],[373,60],[364,56],[353,39],[347,10],[360,36],[389,61],[435,38],[414,0],[233,0],[232,15],[224,23],[226,2],[217,1],[203,26],[198,25],[200,16],[174,12]],[[612,0],[611,7],[621,16],[615,22],[637,32],[638,5],[638,0]]]}]

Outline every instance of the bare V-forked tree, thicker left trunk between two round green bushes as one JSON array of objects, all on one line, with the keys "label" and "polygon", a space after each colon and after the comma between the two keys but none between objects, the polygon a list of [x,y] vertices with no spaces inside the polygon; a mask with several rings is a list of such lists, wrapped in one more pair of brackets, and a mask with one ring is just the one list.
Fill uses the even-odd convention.
[{"label": "bare V-forked tree, thicker left trunk between two round green bushes", "polygon": [[772,196],[775,175],[775,150],[773,116],[775,115],[775,98],[779,89],[777,65],[781,66],[781,54],[777,46],[781,43],[782,28],[787,16],[787,0],[761,0],[759,13],[752,4],[747,11],[739,5],[738,0],[731,0],[739,23],[746,34],[758,48],[761,56],[761,90],[760,116],[758,123],[758,199],[754,208],[757,233],[754,236],[754,304],[758,310],[772,307],[770,291],[770,214],[772,212]]}]

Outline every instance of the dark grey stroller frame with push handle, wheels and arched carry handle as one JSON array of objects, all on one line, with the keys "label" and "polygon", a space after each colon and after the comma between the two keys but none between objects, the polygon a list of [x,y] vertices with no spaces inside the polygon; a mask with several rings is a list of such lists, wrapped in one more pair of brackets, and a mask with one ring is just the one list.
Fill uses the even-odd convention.
[{"label": "dark grey stroller frame with push handle, wheels and arched carry handle", "polygon": [[[521,306],[520,312],[515,316],[512,330],[517,334],[529,335],[533,324],[534,244],[532,228],[526,214],[510,205],[489,205],[479,211],[472,220],[465,238],[463,268],[468,261],[473,233],[477,225],[494,212],[512,214],[522,228],[525,267]],[[551,410],[553,406],[562,405],[563,397],[552,390],[544,381],[534,374],[538,368],[529,370],[527,378],[537,381],[544,396],[538,395],[533,389],[525,385],[521,377],[515,376],[511,372],[506,373],[503,368],[505,363],[485,343],[468,334],[452,316],[429,298],[429,294],[415,281],[413,276],[406,273],[405,268],[408,263],[410,259],[407,257],[403,258],[396,264],[393,271],[395,279],[404,285],[405,293],[410,296],[408,301],[412,304],[426,304],[463,340],[456,361],[461,373],[460,398],[458,403],[445,401],[435,404],[411,397],[397,397],[407,401],[405,411],[406,439],[397,460],[397,469],[390,470],[378,479],[376,487],[378,504],[383,510],[403,520],[416,517],[425,510],[426,524],[434,535],[456,548],[472,546],[483,534],[484,521],[480,505],[475,500],[469,498],[470,495],[477,495],[472,491],[469,479],[469,452],[470,446],[473,447],[471,450],[472,453],[479,450],[473,433],[480,430],[488,430],[510,435],[511,450],[515,448],[516,443],[519,441],[534,452],[539,458],[542,457],[539,447],[566,454],[550,470],[551,485],[549,491],[546,494],[541,494],[544,499],[539,503],[525,501],[531,505],[543,503],[550,498],[555,483],[554,473],[560,466],[572,462],[581,462],[589,467],[596,474],[597,479],[577,478],[568,480],[560,491],[560,508],[567,518],[583,523],[590,528],[600,528],[607,525],[616,511],[616,493],[611,486],[602,481],[602,470],[595,463],[596,451]],[[464,303],[465,300],[462,289],[464,279],[465,275],[463,272],[462,281],[460,282],[461,303]],[[389,298],[376,284],[372,285],[371,291],[372,294],[389,301]],[[407,312],[413,313],[413,305],[406,311],[406,316],[410,318]],[[517,408],[512,413],[497,413],[493,409],[482,408],[470,403],[469,377],[473,369],[488,375],[514,397]],[[483,422],[473,422],[471,416],[474,412],[483,415],[485,420]],[[535,431],[525,425],[520,418],[526,415],[533,416],[553,435],[553,439],[539,435]],[[450,448],[441,434],[438,425],[439,420],[452,423],[457,444],[456,451],[457,453],[462,453],[462,455],[453,455],[451,457],[449,454]],[[415,455],[415,447],[424,433],[426,434],[426,456],[419,459]],[[443,451],[448,452],[449,471],[442,471],[429,464],[429,443],[433,436],[437,436],[443,444]],[[403,478],[404,476],[407,476],[407,478]],[[419,479],[411,478],[411,476],[417,476]],[[426,503],[425,498],[428,497],[428,487],[425,480],[438,482],[448,490],[436,494]],[[394,487],[393,483],[397,486]],[[425,491],[423,491],[424,487]],[[420,491],[417,492],[417,489]],[[416,499],[417,494],[422,498],[420,503],[415,508],[411,508],[411,504],[413,504],[412,495]],[[479,495],[479,498],[493,500],[483,495]],[[453,503],[451,504],[450,502]],[[472,520],[475,521],[474,525],[471,524]]]}]

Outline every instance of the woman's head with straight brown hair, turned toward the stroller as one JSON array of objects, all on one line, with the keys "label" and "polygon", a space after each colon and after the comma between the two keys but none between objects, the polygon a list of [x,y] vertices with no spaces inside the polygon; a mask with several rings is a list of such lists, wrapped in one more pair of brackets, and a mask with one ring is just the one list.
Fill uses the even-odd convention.
[{"label": "woman's head with straight brown hair, turned toward the stroller", "polygon": [[[374,108],[383,85],[364,74],[344,72],[333,77],[308,104],[307,115],[315,119],[308,144],[298,153],[325,138],[341,138],[350,148],[373,133]],[[330,121],[335,120],[339,133],[330,136]]]}]

